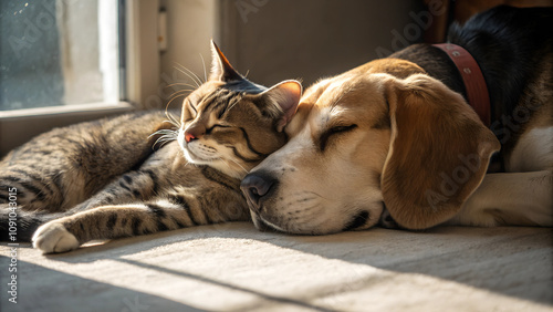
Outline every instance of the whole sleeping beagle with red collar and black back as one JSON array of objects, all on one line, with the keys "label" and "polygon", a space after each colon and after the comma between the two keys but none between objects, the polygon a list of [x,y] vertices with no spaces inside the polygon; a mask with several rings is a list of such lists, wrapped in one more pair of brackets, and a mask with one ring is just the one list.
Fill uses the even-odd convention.
[{"label": "whole sleeping beagle with red collar and black back", "polygon": [[[415,44],[309,87],[289,142],[242,180],[255,227],[553,226],[551,29],[551,8],[498,7],[452,25],[446,48]],[[478,69],[458,69],[451,46],[486,81],[474,108],[463,74]]]}]

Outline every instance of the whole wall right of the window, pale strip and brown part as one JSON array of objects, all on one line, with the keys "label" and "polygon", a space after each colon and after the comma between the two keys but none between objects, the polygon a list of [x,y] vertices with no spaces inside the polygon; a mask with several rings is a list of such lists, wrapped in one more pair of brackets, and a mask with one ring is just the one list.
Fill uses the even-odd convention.
[{"label": "whole wall right of the window, pale strip and brown part", "polygon": [[[406,27],[410,31],[408,43],[417,41],[422,29],[416,29],[413,15],[425,12],[421,3],[405,0],[161,0],[168,14],[169,39],[168,50],[161,55],[161,85],[186,80],[175,69],[175,62],[202,77],[199,54],[204,55],[209,70],[211,38],[233,66],[242,74],[248,72],[254,82],[272,85],[285,79],[302,79],[304,85],[309,85],[319,77],[382,56],[383,51],[401,48],[406,42]],[[395,38],[397,34],[401,38]],[[166,89],[166,100],[177,89]]]}]

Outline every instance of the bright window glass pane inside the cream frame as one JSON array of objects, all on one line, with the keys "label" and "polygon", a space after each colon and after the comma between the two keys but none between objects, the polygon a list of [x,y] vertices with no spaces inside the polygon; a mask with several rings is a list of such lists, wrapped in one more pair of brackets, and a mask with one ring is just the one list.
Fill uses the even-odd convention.
[{"label": "bright window glass pane inside the cream frame", "polygon": [[118,102],[117,7],[0,1],[0,111]]}]

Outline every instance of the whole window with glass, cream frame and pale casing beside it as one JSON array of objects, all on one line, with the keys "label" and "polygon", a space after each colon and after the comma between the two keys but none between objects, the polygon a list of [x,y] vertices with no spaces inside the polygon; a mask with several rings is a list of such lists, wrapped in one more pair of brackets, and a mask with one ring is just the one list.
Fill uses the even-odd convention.
[{"label": "whole window with glass, cream frame and pale casing beside it", "polygon": [[[0,0],[0,157],[53,127],[164,108],[175,62],[210,55],[217,10],[205,1]],[[161,2],[174,17],[165,65]]]}]

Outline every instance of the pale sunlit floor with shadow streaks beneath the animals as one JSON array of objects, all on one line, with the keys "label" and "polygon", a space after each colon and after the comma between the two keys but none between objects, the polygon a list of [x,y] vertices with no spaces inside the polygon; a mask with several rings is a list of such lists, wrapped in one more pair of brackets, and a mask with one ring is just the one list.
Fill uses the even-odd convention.
[{"label": "pale sunlit floor with shadow streaks beneath the animals", "polygon": [[0,247],[0,311],[553,311],[551,228],[305,237],[238,222],[13,251]]}]

